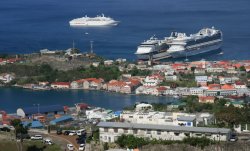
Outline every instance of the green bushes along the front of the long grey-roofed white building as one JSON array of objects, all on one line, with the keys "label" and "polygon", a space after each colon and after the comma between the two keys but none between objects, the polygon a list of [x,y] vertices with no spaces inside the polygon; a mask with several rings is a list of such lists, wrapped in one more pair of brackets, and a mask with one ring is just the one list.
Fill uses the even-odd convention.
[{"label": "green bushes along the front of the long grey-roofed white building", "polygon": [[156,139],[150,140],[141,137],[135,137],[133,135],[121,135],[118,137],[116,143],[122,148],[125,147],[140,148],[147,144],[152,144],[152,145],[189,144],[192,146],[204,148],[205,146],[214,144],[215,142],[205,137],[202,138],[187,137],[183,139],[183,141],[173,141],[173,140],[156,140]]}]

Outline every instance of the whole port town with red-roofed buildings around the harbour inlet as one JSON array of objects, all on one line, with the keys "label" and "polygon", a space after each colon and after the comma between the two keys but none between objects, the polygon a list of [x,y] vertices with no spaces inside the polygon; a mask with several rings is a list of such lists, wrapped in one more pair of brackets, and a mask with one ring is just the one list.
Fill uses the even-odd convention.
[{"label": "whole port town with red-roofed buildings around the harbour inlet", "polygon": [[[10,113],[2,109],[3,135],[24,142],[19,148],[29,139],[41,139],[49,146],[55,143],[54,149],[59,150],[144,150],[153,141],[185,146],[195,139],[204,139],[209,147],[235,141],[248,148],[250,60],[131,62],[69,48],[2,55],[0,64],[1,89],[100,91],[111,97],[146,95],[171,100],[138,100],[119,109],[83,100],[67,105],[31,103]],[[14,133],[18,124],[24,133]],[[131,139],[135,144],[122,143]],[[208,146],[197,143],[193,147]]]}]

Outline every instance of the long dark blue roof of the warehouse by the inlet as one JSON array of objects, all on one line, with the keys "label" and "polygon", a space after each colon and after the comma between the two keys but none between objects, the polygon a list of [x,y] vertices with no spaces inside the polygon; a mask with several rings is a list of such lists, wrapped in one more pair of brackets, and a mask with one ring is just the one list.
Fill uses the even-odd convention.
[{"label": "long dark blue roof of the warehouse by the inlet", "polygon": [[46,113],[46,112],[60,112],[60,111],[64,111],[63,106],[61,105],[50,105],[50,106],[32,106],[32,107],[27,107],[27,108],[23,108],[23,111],[25,114],[36,114],[38,113]]}]

